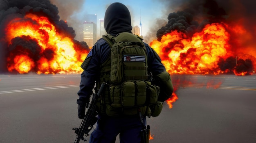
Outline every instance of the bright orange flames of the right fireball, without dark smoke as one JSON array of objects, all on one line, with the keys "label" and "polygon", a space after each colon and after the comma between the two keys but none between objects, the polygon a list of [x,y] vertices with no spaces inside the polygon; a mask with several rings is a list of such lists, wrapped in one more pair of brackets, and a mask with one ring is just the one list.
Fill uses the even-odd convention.
[{"label": "bright orange flames of the right fireball, without dark smoke", "polygon": [[218,60],[231,56],[225,24],[208,24],[192,38],[177,30],[152,41],[170,74],[220,74]]}]

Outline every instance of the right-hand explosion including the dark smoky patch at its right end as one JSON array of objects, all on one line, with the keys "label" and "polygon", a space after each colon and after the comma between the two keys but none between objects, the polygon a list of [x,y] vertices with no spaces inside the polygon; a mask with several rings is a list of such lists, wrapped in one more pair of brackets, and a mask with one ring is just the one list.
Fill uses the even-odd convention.
[{"label": "right-hand explosion including the dark smoky patch at its right end", "polygon": [[230,44],[230,31],[228,24],[223,22],[207,24],[192,37],[174,29],[162,35],[159,41],[152,41],[150,46],[170,74],[251,75],[256,58],[248,54],[234,58],[236,53]]}]

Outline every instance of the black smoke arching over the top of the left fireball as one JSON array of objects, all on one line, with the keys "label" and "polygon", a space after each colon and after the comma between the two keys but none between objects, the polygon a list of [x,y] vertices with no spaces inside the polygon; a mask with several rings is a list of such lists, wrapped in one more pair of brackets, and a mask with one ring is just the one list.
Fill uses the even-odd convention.
[{"label": "black smoke arching over the top of the left fireball", "polygon": [[0,0],[0,30],[4,30],[6,20],[26,13],[36,13],[49,18],[60,32],[67,32],[74,38],[75,31],[65,21],[60,20],[58,7],[49,0]]}]

